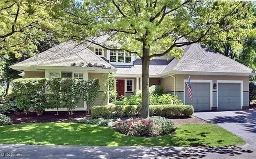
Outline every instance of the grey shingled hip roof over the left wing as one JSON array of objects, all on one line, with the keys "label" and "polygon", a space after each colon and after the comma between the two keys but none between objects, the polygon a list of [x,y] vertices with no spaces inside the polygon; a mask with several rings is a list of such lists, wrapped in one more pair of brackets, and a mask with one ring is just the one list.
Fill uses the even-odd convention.
[{"label": "grey shingled hip roof over the left wing", "polygon": [[11,67],[18,66],[74,66],[113,69],[108,62],[94,54],[83,45],[64,42],[34,57],[28,58]]}]

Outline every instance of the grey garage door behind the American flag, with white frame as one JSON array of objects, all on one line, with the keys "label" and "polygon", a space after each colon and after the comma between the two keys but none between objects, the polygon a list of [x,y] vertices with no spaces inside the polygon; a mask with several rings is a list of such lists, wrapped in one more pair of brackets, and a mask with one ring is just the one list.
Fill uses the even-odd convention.
[{"label": "grey garage door behind the American flag, with white frame", "polygon": [[184,80],[184,104],[192,105],[195,111],[204,111],[211,109],[212,103],[212,81],[190,80],[193,100],[188,96]]}]

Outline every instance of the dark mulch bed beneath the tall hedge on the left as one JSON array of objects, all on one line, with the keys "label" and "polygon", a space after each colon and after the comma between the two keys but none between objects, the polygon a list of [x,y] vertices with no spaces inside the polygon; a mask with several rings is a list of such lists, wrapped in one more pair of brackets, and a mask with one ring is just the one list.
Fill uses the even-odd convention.
[{"label": "dark mulch bed beneath the tall hedge on the left", "polygon": [[86,117],[85,111],[75,111],[73,115],[68,115],[67,111],[59,111],[59,115],[55,115],[56,111],[46,111],[43,115],[38,116],[36,112],[28,113],[16,112],[9,117],[14,124],[20,123],[39,123],[39,122],[74,122],[80,118]]}]

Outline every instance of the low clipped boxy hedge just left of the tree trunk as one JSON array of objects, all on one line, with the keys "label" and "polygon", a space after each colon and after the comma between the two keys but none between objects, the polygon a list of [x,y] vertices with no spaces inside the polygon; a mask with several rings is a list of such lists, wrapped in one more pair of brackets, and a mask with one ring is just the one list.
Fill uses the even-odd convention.
[{"label": "low clipped boxy hedge just left of the tree trunk", "polygon": [[92,107],[92,118],[118,118],[134,117],[140,115],[140,107],[137,105],[107,105]]}]

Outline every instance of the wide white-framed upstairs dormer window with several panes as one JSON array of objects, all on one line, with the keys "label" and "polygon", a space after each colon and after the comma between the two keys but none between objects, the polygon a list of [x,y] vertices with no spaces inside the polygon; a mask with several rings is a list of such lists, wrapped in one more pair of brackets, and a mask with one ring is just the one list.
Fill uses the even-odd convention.
[{"label": "wide white-framed upstairs dormer window with several panes", "polygon": [[132,54],[123,51],[114,51],[110,50],[110,62],[113,63],[131,63],[132,62]]}]

